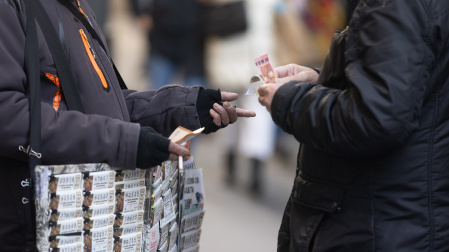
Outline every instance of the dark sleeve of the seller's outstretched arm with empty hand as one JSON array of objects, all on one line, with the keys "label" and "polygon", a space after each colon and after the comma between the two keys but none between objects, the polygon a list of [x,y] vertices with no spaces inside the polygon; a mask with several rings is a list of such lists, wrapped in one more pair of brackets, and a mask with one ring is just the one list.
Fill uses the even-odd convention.
[{"label": "dark sleeve of the seller's outstretched arm with empty hand", "polygon": [[135,92],[126,96],[132,122],[150,126],[168,137],[178,127],[201,127],[196,101],[201,86],[167,85],[158,90]]}]

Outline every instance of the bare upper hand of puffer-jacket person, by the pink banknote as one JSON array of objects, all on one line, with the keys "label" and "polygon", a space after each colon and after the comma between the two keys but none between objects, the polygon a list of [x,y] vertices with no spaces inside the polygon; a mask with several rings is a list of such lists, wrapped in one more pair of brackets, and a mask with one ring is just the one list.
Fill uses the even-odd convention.
[{"label": "bare upper hand of puffer-jacket person, by the pink banknote", "polygon": [[319,76],[319,74],[312,68],[296,64],[276,67],[274,72],[276,73],[276,76],[278,76],[276,83],[287,83],[293,80],[316,83]]}]

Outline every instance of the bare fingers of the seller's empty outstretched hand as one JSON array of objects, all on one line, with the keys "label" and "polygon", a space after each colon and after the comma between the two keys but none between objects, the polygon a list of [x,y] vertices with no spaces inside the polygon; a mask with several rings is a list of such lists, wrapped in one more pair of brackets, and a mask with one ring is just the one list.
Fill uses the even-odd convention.
[{"label": "bare fingers of the seller's empty outstretched hand", "polygon": [[221,92],[221,100],[224,102],[223,106],[218,103],[214,104],[213,109],[210,110],[210,115],[213,118],[215,125],[226,126],[229,123],[234,123],[239,117],[254,117],[254,111],[245,110],[241,108],[234,108],[229,102],[235,101],[239,95],[237,93]]}]

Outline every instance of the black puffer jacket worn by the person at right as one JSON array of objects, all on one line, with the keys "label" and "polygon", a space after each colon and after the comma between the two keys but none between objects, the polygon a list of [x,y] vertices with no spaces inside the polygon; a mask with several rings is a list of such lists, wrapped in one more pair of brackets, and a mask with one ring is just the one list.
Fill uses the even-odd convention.
[{"label": "black puffer jacket worn by the person at right", "polygon": [[449,251],[449,1],[361,0],[318,84],[283,85],[302,143],[278,251]]}]

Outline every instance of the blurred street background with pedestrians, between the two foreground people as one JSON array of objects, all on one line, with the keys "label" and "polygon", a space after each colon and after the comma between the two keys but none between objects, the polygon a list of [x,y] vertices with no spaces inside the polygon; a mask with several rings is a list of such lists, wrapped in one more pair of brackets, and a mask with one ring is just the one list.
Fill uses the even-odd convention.
[{"label": "blurred street background with pedestrians, between the two foreground people", "polygon": [[200,251],[276,251],[299,143],[245,96],[254,58],[276,67],[321,67],[346,0],[89,0],[128,88],[203,85],[240,95],[240,119],[192,143],[203,168],[206,214]]}]

